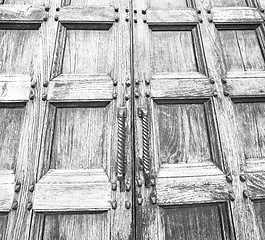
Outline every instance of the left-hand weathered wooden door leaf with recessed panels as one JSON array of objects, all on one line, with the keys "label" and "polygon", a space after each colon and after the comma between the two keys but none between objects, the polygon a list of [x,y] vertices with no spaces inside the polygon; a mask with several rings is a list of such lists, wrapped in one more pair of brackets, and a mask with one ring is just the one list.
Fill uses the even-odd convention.
[{"label": "left-hand weathered wooden door leaf with recessed panels", "polygon": [[0,5],[0,239],[132,237],[129,1]]}]

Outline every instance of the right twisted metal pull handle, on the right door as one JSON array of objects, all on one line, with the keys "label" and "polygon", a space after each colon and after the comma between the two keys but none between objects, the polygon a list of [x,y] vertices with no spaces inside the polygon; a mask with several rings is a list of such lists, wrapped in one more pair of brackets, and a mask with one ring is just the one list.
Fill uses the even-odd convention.
[{"label": "right twisted metal pull handle, on the right door", "polygon": [[146,108],[138,109],[139,117],[142,119],[142,137],[143,137],[143,170],[145,175],[145,185],[150,182],[150,150],[149,150],[149,122]]}]

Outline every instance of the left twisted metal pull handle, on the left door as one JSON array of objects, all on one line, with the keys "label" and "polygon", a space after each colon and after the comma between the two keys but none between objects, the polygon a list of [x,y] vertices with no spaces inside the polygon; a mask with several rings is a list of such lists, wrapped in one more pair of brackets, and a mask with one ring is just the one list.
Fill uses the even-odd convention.
[{"label": "left twisted metal pull handle, on the left door", "polygon": [[122,180],[125,174],[125,118],[126,108],[118,109],[118,155],[117,155],[117,177]]}]

